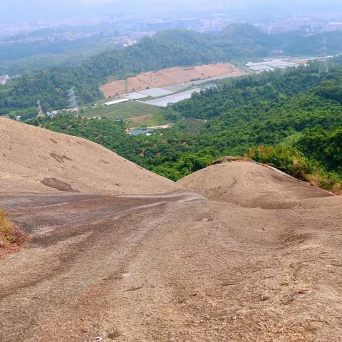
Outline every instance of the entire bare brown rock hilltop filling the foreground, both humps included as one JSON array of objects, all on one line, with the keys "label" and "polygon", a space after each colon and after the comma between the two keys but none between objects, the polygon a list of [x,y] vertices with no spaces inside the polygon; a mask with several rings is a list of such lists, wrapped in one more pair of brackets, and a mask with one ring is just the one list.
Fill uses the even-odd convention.
[{"label": "entire bare brown rock hilltop filling the foreground, both humps included", "polygon": [[6,119],[0,163],[29,237],[0,341],[341,341],[342,197],[248,161],[175,183]]}]

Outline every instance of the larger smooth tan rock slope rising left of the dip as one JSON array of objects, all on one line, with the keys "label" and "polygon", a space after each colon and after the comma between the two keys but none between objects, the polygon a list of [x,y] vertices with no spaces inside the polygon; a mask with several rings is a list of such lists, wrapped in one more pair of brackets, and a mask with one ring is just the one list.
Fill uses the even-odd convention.
[{"label": "larger smooth tan rock slope rising left of the dip", "polygon": [[0,118],[0,192],[158,194],[180,186],[105,147]]}]

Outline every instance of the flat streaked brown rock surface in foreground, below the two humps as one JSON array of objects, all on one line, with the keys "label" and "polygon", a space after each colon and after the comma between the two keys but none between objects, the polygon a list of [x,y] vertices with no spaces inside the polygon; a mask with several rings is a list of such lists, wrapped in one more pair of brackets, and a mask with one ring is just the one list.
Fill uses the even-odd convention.
[{"label": "flat streaked brown rock surface in foreground, below the two humps", "polygon": [[341,341],[342,199],[0,197],[0,341]]}]

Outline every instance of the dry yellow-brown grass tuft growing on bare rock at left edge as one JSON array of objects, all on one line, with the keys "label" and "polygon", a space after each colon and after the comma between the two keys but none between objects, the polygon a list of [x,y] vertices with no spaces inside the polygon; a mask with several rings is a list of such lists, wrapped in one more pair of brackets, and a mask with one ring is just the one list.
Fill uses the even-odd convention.
[{"label": "dry yellow-brown grass tuft growing on bare rock at left edge", "polygon": [[0,210],[0,257],[16,252],[25,242],[26,235],[16,227],[4,210]]}]

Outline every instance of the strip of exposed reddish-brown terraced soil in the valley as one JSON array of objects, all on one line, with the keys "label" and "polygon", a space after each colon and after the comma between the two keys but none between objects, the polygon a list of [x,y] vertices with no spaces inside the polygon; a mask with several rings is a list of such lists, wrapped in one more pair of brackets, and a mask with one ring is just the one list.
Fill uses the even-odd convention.
[{"label": "strip of exposed reddish-brown terraced soil in the valley", "polygon": [[127,92],[172,86],[193,80],[206,80],[208,78],[226,75],[238,77],[242,73],[244,72],[229,63],[217,63],[190,68],[167,68],[160,71],[140,73],[138,76],[130,77],[127,79],[127,88],[125,80],[118,80],[101,86],[100,90],[105,98],[110,98]]}]

